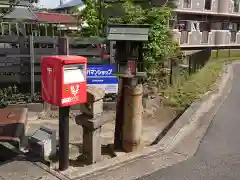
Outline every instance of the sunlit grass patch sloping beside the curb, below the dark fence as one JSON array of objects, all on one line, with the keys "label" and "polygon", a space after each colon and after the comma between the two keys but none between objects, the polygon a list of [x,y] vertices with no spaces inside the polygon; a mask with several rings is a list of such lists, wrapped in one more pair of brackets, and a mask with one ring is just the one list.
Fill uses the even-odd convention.
[{"label": "sunlit grass patch sloping beside the curb, below the dark fence", "polygon": [[173,108],[185,109],[193,101],[200,99],[212,90],[226,61],[211,59],[199,72],[190,76],[182,84],[167,88],[164,91],[165,104]]}]

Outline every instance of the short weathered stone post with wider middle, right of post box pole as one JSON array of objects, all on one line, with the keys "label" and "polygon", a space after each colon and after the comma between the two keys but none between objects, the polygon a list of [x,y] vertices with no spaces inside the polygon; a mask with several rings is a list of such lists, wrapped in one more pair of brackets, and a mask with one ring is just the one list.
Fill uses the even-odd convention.
[{"label": "short weathered stone post with wider middle, right of post box pole", "polygon": [[101,161],[101,128],[106,122],[103,113],[103,89],[88,87],[87,103],[80,106],[76,122],[83,127],[83,155],[87,164]]}]

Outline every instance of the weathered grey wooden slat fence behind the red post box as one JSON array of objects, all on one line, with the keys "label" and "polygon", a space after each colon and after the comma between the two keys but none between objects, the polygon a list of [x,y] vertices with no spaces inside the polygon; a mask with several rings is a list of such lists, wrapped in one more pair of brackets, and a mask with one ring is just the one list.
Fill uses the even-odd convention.
[{"label": "weathered grey wooden slat fence behind the red post box", "polygon": [[[26,84],[35,86],[41,82],[40,61],[42,56],[81,55],[101,59],[101,49],[70,48],[73,41],[66,37],[47,36],[0,36],[0,85]],[[8,47],[6,47],[6,45]]]}]

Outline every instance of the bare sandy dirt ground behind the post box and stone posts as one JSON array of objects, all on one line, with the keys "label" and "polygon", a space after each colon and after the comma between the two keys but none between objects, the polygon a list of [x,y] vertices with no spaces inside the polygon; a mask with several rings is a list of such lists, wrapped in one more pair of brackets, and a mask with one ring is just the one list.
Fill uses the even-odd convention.
[{"label": "bare sandy dirt ground behind the post box and stone posts", "polygon": [[[154,101],[154,100],[153,100]],[[158,99],[153,102],[150,108],[145,108],[142,118],[142,146],[149,146],[157,143],[165,128],[169,126],[172,120],[176,117],[173,109],[165,108],[160,105]],[[82,152],[82,127],[75,122],[75,116],[80,112],[73,110],[70,113],[69,123],[69,138],[70,138],[70,159],[72,166],[84,166],[82,161],[79,161]],[[108,159],[116,156],[110,147],[114,142],[115,128],[115,111],[107,110],[109,122],[103,125],[101,130],[102,137],[102,159]],[[39,114],[38,119],[29,120],[27,125],[27,135],[31,136],[41,126],[48,127],[58,131],[58,111],[50,111],[48,114]],[[57,133],[58,134],[58,133]]]}]

